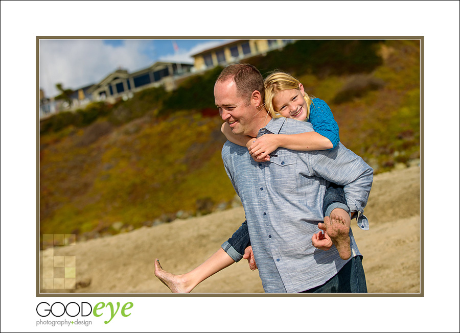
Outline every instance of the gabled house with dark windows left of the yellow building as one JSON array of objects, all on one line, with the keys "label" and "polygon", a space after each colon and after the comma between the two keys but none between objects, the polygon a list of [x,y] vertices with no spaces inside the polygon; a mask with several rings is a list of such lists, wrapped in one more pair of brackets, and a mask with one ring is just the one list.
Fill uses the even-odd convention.
[{"label": "gabled house with dark windows left of the yellow building", "polygon": [[158,61],[153,65],[128,73],[117,69],[88,89],[93,101],[113,103],[117,98],[131,98],[133,93],[146,88],[164,86],[167,91],[176,88],[175,78],[191,72],[193,65]]}]

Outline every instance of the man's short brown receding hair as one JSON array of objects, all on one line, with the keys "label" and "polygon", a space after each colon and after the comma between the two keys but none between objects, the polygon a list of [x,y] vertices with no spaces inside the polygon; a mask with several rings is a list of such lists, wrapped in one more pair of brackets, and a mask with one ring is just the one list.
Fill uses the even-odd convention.
[{"label": "man's short brown receding hair", "polygon": [[264,79],[259,70],[250,64],[233,64],[225,67],[216,81],[233,79],[236,83],[237,93],[249,104],[252,92],[260,92],[264,100]]}]

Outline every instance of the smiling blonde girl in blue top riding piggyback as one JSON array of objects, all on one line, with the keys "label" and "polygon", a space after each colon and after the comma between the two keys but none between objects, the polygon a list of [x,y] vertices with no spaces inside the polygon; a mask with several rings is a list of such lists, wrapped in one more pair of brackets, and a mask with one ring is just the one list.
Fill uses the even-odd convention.
[{"label": "smiling blonde girl in blue top riding piggyback", "polygon": [[[311,99],[304,91],[303,85],[289,74],[276,72],[269,75],[264,81],[265,109],[271,117],[281,116],[299,121],[308,121],[315,132],[281,135],[265,134],[259,138],[235,135],[227,123],[222,125],[222,132],[227,139],[239,146],[248,148],[250,155],[257,162],[268,162],[270,153],[283,147],[291,150],[311,151],[334,149],[339,142],[338,125],[334,120],[329,106],[322,100]],[[312,244],[319,249],[328,250],[331,242],[336,246],[340,257],[348,259],[351,256],[350,237],[350,209],[347,206],[343,189],[331,184],[325,194],[323,213],[324,224],[318,227],[319,231],[312,236]],[[254,256],[250,247],[247,222],[228,239],[222,247],[209,259],[194,270],[173,275],[164,271],[155,260],[155,275],[171,289],[173,293],[189,293],[198,283],[217,273],[235,261],[227,254],[232,251],[233,256],[248,259],[252,270],[256,269]]]}]

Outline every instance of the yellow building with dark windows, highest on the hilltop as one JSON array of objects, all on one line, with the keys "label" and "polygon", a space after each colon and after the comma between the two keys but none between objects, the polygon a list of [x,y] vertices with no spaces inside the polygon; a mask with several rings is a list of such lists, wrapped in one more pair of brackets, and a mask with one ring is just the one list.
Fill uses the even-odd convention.
[{"label": "yellow building with dark windows, highest on the hilltop", "polygon": [[212,47],[192,55],[195,59],[194,70],[201,72],[215,66],[226,66],[269,51],[282,49],[292,40],[286,39],[241,39]]}]

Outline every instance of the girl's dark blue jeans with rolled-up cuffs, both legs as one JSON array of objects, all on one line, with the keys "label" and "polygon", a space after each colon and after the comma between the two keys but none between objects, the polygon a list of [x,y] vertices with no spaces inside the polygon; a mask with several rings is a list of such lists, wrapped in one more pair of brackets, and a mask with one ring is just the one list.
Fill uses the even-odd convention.
[{"label": "girl's dark blue jeans with rolled-up cuffs, both legs", "polygon": [[[347,200],[345,200],[343,186],[331,183],[324,194],[323,215],[331,215],[331,211],[335,208],[342,208],[350,212],[350,208],[347,206]],[[235,231],[232,237],[230,237],[225,244],[227,247],[227,249],[224,249],[225,252],[233,247],[236,252],[243,256],[244,250],[251,245],[249,231],[247,230],[247,221],[244,221],[241,224],[238,230]]]}]

